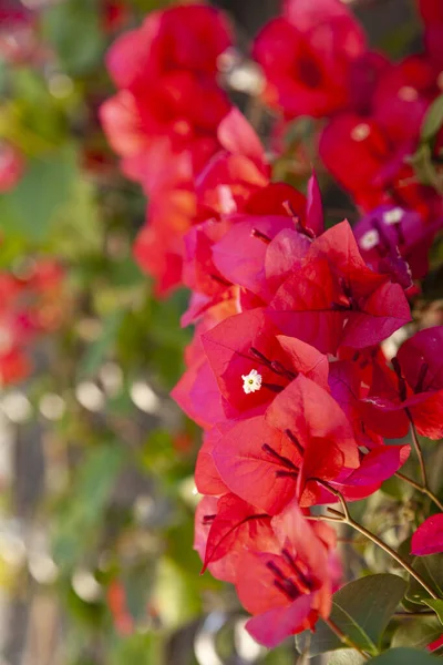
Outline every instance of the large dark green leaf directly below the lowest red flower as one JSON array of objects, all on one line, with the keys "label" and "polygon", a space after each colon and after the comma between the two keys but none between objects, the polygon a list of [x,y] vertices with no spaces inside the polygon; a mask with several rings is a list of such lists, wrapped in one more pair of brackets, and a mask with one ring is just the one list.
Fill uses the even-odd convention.
[{"label": "large dark green leaf directly below the lowest red flower", "polygon": [[[358,646],[375,654],[380,637],[405,589],[405,581],[398,575],[369,575],[350,582],[333,594],[331,620]],[[317,624],[313,635],[301,633],[297,636],[300,653],[307,647],[308,640],[311,656],[342,646],[322,621]]]}]

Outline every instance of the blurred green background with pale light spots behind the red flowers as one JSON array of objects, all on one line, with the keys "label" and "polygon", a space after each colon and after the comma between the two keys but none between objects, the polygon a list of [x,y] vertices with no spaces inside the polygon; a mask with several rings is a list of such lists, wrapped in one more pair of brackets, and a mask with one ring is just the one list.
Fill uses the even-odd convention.
[{"label": "blurred green background with pale light spots behind the red flowers", "polygon": [[[408,0],[347,2],[393,58],[419,42]],[[233,590],[199,576],[199,431],[168,398],[186,293],[158,301],[133,260],[145,197],[97,120],[106,48],[166,4],[0,0],[1,665],[297,662],[291,644],[260,649]],[[279,11],[217,4],[245,57]]]}]

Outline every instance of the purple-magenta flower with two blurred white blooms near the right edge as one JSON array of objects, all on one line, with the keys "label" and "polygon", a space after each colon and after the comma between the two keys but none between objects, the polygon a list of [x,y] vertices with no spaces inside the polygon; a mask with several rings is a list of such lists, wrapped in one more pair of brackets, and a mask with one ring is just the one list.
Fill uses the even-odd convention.
[{"label": "purple-magenta flower with two blurred white blooms near the right edge", "polygon": [[427,274],[429,250],[442,226],[443,217],[426,224],[418,212],[388,205],[364,215],[353,233],[361,255],[372,268],[381,269],[383,262],[395,256],[399,249],[412,277],[421,279]]}]

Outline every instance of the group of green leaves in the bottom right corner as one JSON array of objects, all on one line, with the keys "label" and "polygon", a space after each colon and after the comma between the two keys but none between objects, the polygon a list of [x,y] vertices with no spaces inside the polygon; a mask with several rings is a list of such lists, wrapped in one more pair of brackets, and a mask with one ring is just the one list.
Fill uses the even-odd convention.
[{"label": "group of green leaves in the bottom right corner", "polygon": [[[418,559],[414,567],[441,593],[441,556]],[[334,593],[330,621],[320,621],[315,634],[298,635],[297,648],[309,657],[334,652],[328,665],[361,665],[368,657],[377,665],[436,665],[443,648],[432,655],[423,649],[442,635],[442,608],[443,602],[430,598],[413,579],[408,585],[399,575],[368,575]],[[331,622],[346,641],[331,630]]]}]

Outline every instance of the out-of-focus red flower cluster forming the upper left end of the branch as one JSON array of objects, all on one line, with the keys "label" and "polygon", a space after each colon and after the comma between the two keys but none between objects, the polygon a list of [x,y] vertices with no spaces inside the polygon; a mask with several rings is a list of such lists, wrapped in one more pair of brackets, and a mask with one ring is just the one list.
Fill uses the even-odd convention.
[{"label": "out-of-focus red flower cluster forming the upper left end of the branch", "polygon": [[215,9],[177,6],[148,14],[107,54],[119,92],[102,105],[101,119],[123,172],[150,198],[135,256],[157,278],[158,293],[181,282],[195,178],[220,149],[217,127],[230,104],[217,83],[217,59],[230,43]]}]

